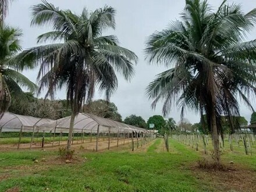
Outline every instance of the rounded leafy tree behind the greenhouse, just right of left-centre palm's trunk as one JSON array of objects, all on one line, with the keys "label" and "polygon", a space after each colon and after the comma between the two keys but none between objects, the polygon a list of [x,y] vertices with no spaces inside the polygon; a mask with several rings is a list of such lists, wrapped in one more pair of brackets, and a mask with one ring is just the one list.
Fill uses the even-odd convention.
[{"label": "rounded leafy tree behind the greenhouse, just right of left-centre palm's trunk", "polygon": [[122,122],[122,116],[118,113],[118,107],[113,102],[108,102],[104,99],[98,99],[84,105],[83,112]]}]

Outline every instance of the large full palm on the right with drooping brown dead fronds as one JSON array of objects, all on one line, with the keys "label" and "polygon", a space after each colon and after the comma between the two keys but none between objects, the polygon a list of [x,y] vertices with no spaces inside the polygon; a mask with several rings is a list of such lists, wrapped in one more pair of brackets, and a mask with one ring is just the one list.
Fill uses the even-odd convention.
[{"label": "large full palm on the right with drooping brown dead fronds", "polygon": [[223,1],[214,12],[207,1],[186,0],[182,21],[171,22],[147,41],[148,62],[172,66],[147,87],[152,107],[163,100],[166,115],[177,101],[182,115],[186,108],[205,114],[216,163],[221,115],[239,115],[237,97],[252,108],[248,96],[256,93],[256,40],[244,39],[255,18],[256,9],[244,14],[234,3]]}]

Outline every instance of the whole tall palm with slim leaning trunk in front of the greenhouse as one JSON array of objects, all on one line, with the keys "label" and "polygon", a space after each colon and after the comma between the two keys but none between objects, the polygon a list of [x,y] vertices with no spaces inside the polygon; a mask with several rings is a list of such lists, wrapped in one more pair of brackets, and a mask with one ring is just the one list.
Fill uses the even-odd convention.
[{"label": "whole tall palm with slim leaning trunk in front of the greenhouse", "polygon": [[66,87],[67,101],[72,107],[67,151],[71,147],[74,118],[84,102],[93,98],[95,87],[106,99],[118,87],[116,72],[130,80],[134,74],[133,61],[137,56],[120,47],[115,35],[103,36],[106,29],[115,29],[116,10],[105,6],[81,15],[59,10],[51,3],[33,6],[32,26],[52,26],[53,31],[42,34],[38,42],[59,42],[31,48],[20,54],[40,65],[39,91],[47,87],[46,97],[54,97],[57,89]]}]

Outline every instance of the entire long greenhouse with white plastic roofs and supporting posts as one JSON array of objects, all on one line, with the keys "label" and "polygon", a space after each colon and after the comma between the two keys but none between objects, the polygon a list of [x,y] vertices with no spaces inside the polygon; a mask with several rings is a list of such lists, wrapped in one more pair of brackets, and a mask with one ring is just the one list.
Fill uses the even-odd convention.
[{"label": "entire long greenhouse with white plastic roofs and supporting posts", "polygon": [[[51,120],[44,118],[34,118],[32,116],[16,115],[13,113],[4,113],[0,120],[0,134],[2,132],[19,132],[19,141],[17,148],[20,148],[24,132],[31,132],[30,145],[24,145],[23,148],[33,146],[34,136],[39,135],[42,138],[41,147],[54,147],[61,145],[67,139],[69,133],[70,118]],[[41,134],[39,134],[41,133]],[[48,143],[45,142],[45,136],[48,137]],[[66,136],[65,138],[63,136]],[[58,138],[57,138],[58,137]],[[74,129],[72,135],[72,144],[94,143],[92,149],[98,151],[99,142],[105,143],[106,148],[110,148],[113,143],[118,147],[120,140],[122,144],[131,143],[131,149],[134,150],[134,140],[141,141],[141,145],[154,137],[149,131],[140,127],[126,125],[115,120],[99,118],[98,116],[79,113],[74,119]],[[41,140],[41,139],[40,139]],[[55,141],[58,142],[56,143]],[[40,147],[39,146],[39,147]]]}]

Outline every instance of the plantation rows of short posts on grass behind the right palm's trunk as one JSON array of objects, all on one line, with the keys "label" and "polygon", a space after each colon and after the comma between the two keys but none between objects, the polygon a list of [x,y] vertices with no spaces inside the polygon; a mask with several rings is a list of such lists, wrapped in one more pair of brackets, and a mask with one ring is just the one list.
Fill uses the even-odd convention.
[{"label": "plantation rows of short posts on grass behind the right palm's trunk", "polygon": [[[204,151],[208,154],[213,150],[212,137],[205,134],[173,134],[172,138],[180,143],[194,148],[196,151]],[[219,147],[221,151],[229,150],[234,152],[245,152],[246,155],[256,154],[256,136],[254,134],[224,134],[219,136]]]}]

